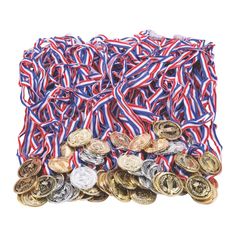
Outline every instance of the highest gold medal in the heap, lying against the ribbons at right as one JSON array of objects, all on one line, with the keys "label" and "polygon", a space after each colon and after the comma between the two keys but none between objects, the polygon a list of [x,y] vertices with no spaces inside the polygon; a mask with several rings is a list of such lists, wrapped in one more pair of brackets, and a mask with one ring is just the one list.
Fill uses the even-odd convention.
[{"label": "highest gold medal in the heap, lying against the ribbons at right", "polygon": [[154,123],[153,130],[159,138],[166,138],[168,140],[178,139],[182,135],[180,126],[170,120]]}]

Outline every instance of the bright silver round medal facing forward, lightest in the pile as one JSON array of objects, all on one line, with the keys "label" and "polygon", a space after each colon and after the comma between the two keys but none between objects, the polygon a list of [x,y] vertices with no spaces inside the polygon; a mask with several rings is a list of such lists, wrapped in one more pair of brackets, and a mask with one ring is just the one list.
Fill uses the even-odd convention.
[{"label": "bright silver round medal facing forward, lightest in the pile", "polygon": [[97,182],[97,173],[87,166],[81,166],[71,172],[70,182],[78,189],[90,189]]}]

